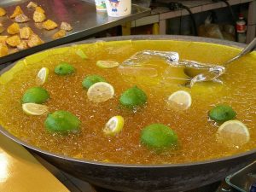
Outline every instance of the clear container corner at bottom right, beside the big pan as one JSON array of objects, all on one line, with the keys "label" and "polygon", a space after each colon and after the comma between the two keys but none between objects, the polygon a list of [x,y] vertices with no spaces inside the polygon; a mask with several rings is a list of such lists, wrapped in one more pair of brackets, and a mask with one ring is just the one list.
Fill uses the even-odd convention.
[{"label": "clear container corner at bottom right, beside the big pan", "polygon": [[233,188],[248,192],[253,183],[256,183],[256,161],[238,172],[226,177],[226,182]]}]

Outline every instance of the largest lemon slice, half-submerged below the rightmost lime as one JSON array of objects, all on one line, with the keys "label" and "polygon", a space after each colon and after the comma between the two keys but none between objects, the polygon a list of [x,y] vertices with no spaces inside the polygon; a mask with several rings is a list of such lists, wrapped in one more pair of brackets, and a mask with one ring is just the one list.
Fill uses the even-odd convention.
[{"label": "largest lemon slice, half-submerged below the rightmost lime", "polygon": [[250,133],[241,121],[229,120],[219,126],[216,137],[219,143],[228,147],[239,147],[250,140]]}]

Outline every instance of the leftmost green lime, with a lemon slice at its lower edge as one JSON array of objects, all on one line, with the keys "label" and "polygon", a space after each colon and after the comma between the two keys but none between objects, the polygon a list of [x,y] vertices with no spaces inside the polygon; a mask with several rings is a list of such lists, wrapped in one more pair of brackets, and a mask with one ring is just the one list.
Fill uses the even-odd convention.
[{"label": "leftmost green lime, with a lemon slice at its lower edge", "polygon": [[49,93],[42,87],[32,87],[26,90],[25,94],[22,96],[22,102],[32,102],[42,104],[49,99]]}]

